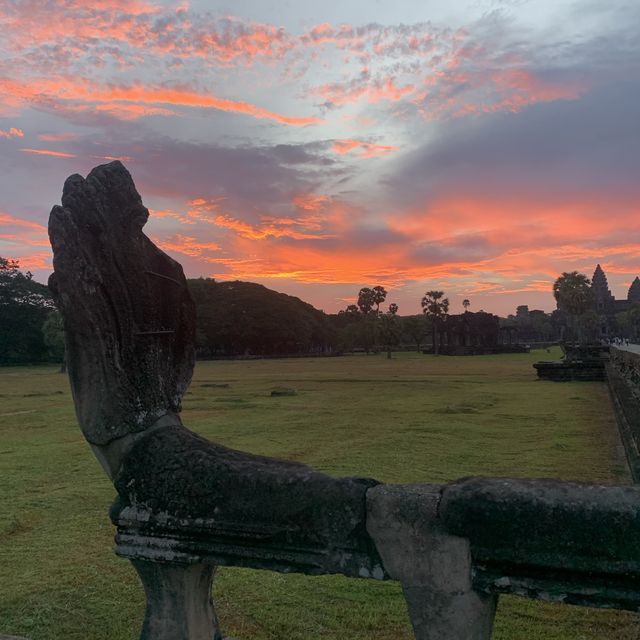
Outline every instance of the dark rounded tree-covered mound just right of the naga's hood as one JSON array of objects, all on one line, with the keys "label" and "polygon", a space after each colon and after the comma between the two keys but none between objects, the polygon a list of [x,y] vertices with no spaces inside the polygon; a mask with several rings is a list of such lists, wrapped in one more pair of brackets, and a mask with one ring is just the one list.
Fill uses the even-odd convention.
[{"label": "dark rounded tree-covered mound just right of the naga's hood", "polygon": [[187,282],[200,357],[320,353],[332,342],[327,316],[299,298],[254,282]]}]

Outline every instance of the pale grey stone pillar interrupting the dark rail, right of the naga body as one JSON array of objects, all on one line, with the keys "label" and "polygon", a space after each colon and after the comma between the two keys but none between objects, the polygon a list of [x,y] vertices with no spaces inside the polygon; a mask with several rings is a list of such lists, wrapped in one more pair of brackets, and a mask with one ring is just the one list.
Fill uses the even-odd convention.
[{"label": "pale grey stone pillar interrupting the dark rail, right of the naga body", "polygon": [[367,492],[367,530],[389,576],[402,584],[417,640],[489,640],[497,597],[471,584],[469,541],[438,519],[437,485]]}]

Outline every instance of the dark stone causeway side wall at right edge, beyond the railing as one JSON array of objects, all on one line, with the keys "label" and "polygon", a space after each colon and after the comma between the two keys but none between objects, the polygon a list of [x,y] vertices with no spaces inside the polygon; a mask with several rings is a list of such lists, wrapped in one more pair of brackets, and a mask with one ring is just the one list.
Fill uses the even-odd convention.
[{"label": "dark stone causeway side wall at right edge, beyond the railing", "polygon": [[640,354],[611,347],[606,371],[629,469],[640,483]]}]

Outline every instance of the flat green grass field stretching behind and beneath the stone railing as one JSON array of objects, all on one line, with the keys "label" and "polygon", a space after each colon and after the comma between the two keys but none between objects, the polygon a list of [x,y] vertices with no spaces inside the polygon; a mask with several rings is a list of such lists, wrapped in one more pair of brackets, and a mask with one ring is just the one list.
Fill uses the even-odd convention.
[{"label": "flat green grass field stretching behind and beneath the stone railing", "polygon": [[[183,420],[334,475],[629,482],[603,383],[538,381],[547,353],[402,354],[199,363]],[[228,385],[228,386],[223,386]],[[270,397],[275,387],[297,395]],[[114,491],[75,422],[65,376],[0,369],[0,635],[133,640],[143,592],[112,551]],[[223,569],[214,596],[238,640],[408,640],[396,583]],[[637,640],[638,617],[502,598],[497,640]]]}]

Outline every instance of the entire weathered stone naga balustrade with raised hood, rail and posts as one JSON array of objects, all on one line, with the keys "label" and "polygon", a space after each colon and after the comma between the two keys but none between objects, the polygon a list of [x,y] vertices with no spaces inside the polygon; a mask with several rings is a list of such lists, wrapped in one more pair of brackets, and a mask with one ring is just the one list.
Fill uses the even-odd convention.
[{"label": "entire weathered stone naga balustrade with raised hood, rail and posts", "polygon": [[78,421],[118,499],[116,551],[147,595],[145,640],[222,638],[219,565],[393,579],[420,640],[487,640],[501,593],[640,607],[640,489],[471,478],[330,478],[187,430],[193,303],[143,234],[124,167],[71,176],[51,281]]}]

